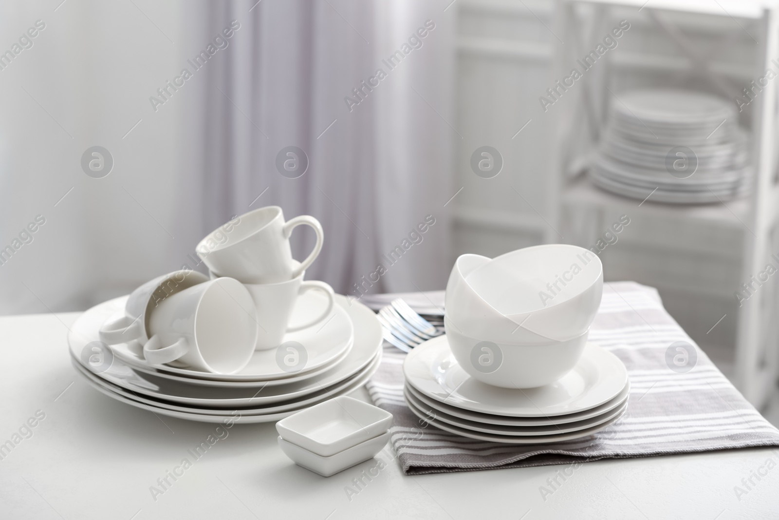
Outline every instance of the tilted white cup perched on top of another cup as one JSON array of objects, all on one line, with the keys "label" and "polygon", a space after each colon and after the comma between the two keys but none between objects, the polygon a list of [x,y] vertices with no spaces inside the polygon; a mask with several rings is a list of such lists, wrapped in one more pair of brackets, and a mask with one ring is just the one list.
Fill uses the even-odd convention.
[{"label": "tilted white cup perched on top of another cup", "polygon": [[[308,257],[294,267],[289,238],[298,225],[311,226],[316,244]],[[319,221],[301,215],[284,222],[278,206],[242,214],[201,240],[196,252],[210,271],[245,284],[272,284],[298,278],[319,256],[323,231]]]}]

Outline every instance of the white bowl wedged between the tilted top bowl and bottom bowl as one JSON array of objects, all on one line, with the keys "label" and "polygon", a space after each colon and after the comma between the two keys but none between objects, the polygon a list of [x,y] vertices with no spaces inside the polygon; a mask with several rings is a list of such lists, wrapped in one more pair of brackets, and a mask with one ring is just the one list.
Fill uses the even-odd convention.
[{"label": "white bowl wedged between the tilted top bowl and bottom bowl", "polygon": [[444,311],[449,321],[462,334],[485,341],[543,344],[553,341],[528,331],[503,316],[485,302],[467,283],[467,277],[478,268],[492,262],[487,256],[460,255],[454,263],[446,284]]}]

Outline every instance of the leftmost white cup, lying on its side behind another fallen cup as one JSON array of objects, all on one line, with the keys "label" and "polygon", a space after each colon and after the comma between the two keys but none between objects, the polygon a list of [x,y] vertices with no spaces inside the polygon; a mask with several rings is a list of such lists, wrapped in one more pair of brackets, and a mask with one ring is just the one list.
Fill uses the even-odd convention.
[{"label": "leftmost white cup, lying on its side behind another fallen cup", "polygon": [[124,316],[108,321],[100,327],[100,341],[106,345],[116,345],[137,340],[143,345],[149,341],[147,335],[149,317],[160,302],[168,296],[207,280],[205,274],[183,270],[163,274],[147,281],[130,294],[125,304]]}]

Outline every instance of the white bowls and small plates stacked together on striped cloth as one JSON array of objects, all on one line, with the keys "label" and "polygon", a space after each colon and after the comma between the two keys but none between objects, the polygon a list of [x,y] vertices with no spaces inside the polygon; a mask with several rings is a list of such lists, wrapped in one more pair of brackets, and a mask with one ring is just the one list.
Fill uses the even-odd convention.
[{"label": "white bowls and small plates stacked together on striped cloth", "polygon": [[587,341],[603,292],[594,253],[549,244],[460,256],[446,335],[404,361],[407,405],[442,430],[506,444],[587,437],[627,406],[622,362]]}]

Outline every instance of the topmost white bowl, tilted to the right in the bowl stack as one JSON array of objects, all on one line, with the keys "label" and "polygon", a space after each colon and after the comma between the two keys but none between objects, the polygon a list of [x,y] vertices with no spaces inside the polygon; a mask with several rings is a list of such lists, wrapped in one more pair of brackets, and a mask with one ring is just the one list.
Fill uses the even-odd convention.
[{"label": "topmost white bowl, tilted to the right in the bowl stack", "polygon": [[601,305],[603,264],[589,249],[545,244],[497,256],[465,281],[499,315],[542,337],[566,341],[587,331]]}]

